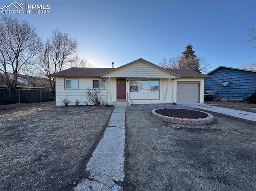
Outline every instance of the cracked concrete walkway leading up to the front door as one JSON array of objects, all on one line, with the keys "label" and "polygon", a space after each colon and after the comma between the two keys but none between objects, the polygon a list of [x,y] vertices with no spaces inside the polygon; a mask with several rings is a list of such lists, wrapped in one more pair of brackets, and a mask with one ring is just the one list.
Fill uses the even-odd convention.
[{"label": "cracked concrete walkway leading up to the front door", "polygon": [[102,140],[88,161],[90,178],[75,191],[121,191],[124,180],[125,107],[115,107]]}]

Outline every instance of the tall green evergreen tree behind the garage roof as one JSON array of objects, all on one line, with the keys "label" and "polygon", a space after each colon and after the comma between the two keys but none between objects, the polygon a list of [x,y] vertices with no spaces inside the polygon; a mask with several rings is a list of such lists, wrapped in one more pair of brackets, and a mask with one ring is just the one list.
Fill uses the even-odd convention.
[{"label": "tall green evergreen tree behind the garage roof", "polygon": [[200,72],[199,58],[195,55],[195,51],[193,51],[192,48],[190,44],[186,46],[185,50],[182,52],[182,57],[178,61],[178,68]]}]

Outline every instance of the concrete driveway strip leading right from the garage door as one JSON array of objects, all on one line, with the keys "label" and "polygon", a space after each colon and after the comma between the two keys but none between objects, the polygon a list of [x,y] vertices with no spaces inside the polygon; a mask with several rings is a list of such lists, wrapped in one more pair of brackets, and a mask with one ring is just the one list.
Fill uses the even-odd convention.
[{"label": "concrete driveway strip leading right from the garage door", "polygon": [[236,109],[229,109],[229,108],[223,108],[223,107],[217,107],[217,106],[212,106],[210,104],[203,104],[203,103],[196,103],[196,104],[185,104],[190,107],[194,108],[199,108],[199,109],[204,109],[216,113],[222,113],[225,115],[230,115],[250,121],[256,121],[256,113],[253,112],[246,112],[246,111],[241,111],[241,110],[236,110]]}]

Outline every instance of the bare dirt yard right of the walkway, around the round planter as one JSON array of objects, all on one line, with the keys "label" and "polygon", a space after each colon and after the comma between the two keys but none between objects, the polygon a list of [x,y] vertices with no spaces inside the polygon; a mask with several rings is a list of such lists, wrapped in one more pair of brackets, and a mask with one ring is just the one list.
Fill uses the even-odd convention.
[{"label": "bare dirt yard right of the walkway, around the round planter", "polygon": [[202,126],[126,110],[124,191],[256,190],[256,122],[210,112]]}]

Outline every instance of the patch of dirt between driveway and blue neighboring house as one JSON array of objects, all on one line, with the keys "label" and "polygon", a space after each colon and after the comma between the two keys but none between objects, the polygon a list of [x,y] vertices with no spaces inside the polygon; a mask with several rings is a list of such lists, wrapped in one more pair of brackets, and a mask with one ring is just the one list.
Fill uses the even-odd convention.
[{"label": "patch of dirt between driveway and blue neighboring house", "polygon": [[256,113],[256,104],[249,104],[247,102],[238,102],[234,100],[228,100],[228,101],[204,101],[204,103],[211,104],[218,107]]}]

